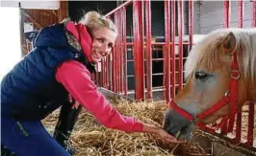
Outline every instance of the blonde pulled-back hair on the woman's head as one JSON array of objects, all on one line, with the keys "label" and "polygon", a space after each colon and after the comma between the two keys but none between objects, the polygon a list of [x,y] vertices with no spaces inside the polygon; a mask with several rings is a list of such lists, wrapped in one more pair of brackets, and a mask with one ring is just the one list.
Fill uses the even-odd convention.
[{"label": "blonde pulled-back hair on the woman's head", "polygon": [[117,35],[117,29],[114,22],[111,19],[99,14],[97,11],[87,12],[79,23],[86,25],[90,33],[101,27],[106,27]]}]

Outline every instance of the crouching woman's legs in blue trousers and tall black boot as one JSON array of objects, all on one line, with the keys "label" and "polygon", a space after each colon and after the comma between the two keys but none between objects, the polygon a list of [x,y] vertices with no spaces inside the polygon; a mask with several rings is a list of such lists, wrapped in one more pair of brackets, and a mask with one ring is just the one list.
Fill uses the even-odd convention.
[{"label": "crouching woman's legs in blue trousers and tall black boot", "polygon": [[77,109],[72,108],[71,103],[62,106],[53,137],[40,121],[17,121],[2,117],[1,156],[69,156],[66,143],[81,108],[81,105]]}]

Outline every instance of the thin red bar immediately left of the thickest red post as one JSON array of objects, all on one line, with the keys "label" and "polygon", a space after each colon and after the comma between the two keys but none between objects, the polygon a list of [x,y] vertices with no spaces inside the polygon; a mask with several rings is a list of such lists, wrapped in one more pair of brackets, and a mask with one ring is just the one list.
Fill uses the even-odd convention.
[{"label": "thin red bar immediately left of the thickest red post", "polygon": [[126,47],[126,9],[123,7],[121,9],[121,16],[122,16],[122,46],[123,46],[123,91],[124,96],[127,96],[127,47]]}]

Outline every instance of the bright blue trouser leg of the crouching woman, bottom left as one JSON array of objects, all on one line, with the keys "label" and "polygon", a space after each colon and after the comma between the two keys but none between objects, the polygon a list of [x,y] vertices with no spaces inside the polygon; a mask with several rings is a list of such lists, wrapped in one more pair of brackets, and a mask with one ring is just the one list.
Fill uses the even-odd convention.
[{"label": "bright blue trouser leg of the crouching woman, bottom left", "polygon": [[[40,121],[22,121],[1,117],[1,155],[70,156]],[[9,151],[10,150],[10,151]]]}]

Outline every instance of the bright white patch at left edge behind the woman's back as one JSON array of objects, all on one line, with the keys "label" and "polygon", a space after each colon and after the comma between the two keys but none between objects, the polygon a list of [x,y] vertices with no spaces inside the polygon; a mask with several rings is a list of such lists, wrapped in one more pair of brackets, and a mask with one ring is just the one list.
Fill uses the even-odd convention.
[{"label": "bright white patch at left edge behind the woman's back", "polygon": [[0,7],[0,81],[21,59],[19,9]]}]

